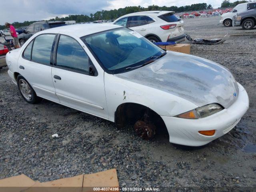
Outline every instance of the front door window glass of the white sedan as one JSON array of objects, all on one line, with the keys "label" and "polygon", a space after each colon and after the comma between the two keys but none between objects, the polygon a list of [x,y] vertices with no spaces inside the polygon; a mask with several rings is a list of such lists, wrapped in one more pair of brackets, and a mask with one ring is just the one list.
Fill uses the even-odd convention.
[{"label": "front door window glass of the white sedan", "polygon": [[56,65],[88,72],[89,57],[76,40],[69,36],[61,35],[58,43]]}]

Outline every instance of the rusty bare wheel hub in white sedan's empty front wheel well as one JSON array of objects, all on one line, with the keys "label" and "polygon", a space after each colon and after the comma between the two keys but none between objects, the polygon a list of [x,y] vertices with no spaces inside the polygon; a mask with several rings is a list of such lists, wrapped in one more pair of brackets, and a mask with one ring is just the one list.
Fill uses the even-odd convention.
[{"label": "rusty bare wheel hub in white sedan's empty front wheel well", "polygon": [[156,126],[152,123],[146,123],[141,120],[134,124],[134,129],[138,136],[146,140],[152,139],[156,134]]}]

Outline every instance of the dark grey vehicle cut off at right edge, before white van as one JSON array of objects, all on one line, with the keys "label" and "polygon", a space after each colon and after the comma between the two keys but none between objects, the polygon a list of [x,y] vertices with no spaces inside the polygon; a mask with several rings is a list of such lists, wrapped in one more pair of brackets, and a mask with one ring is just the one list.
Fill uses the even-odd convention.
[{"label": "dark grey vehicle cut off at right edge, before white van", "polygon": [[249,30],[256,25],[256,8],[237,14],[233,18],[233,26],[242,26],[243,29]]}]

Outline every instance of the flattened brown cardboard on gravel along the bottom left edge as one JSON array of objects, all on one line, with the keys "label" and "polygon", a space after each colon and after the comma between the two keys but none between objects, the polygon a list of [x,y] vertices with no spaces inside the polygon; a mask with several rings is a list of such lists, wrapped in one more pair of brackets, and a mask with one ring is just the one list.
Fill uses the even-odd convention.
[{"label": "flattened brown cardboard on gravel along the bottom left edge", "polygon": [[101,187],[106,192],[119,192],[116,169],[42,183],[24,174],[0,180],[0,192],[97,192]]}]

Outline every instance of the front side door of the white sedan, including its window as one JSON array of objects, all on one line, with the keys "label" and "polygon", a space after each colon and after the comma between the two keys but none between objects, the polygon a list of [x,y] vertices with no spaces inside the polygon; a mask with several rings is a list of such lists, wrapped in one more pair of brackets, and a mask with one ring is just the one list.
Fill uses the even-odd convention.
[{"label": "front side door of the white sedan, including its window", "polygon": [[[108,119],[104,72],[95,72],[81,44],[80,39],[60,35],[52,68],[56,95],[65,106]],[[89,73],[93,68],[94,75]]]}]

